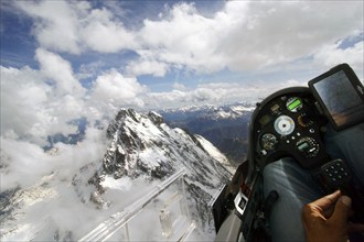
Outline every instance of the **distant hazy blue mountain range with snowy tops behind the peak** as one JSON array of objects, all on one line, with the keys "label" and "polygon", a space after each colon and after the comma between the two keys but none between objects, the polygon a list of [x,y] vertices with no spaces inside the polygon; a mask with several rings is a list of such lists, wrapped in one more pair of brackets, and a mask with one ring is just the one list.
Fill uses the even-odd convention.
[{"label": "distant hazy blue mountain range with snowy tops behind the peak", "polygon": [[248,122],[254,103],[202,106],[162,110],[170,127],[180,127],[197,133],[213,143],[232,162],[246,158]]}]

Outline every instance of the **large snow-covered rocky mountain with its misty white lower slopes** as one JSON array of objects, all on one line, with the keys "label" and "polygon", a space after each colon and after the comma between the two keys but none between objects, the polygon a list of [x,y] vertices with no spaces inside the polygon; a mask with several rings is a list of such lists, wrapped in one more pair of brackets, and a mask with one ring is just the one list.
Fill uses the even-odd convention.
[{"label": "large snow-covered rocky mountain with its misty white lower slopes", "polygon": [[[106,133],[109,145],[98,164],[62,178],[54,170],[32,187],[1,191],[1,240],[77,240],[182,167],[192,218],[204,239],[213,237],[207,204],[234,172],[217,148],[170,128],[156,112],[122,109]],[[62,155],[56,148],[47,153]]]}]

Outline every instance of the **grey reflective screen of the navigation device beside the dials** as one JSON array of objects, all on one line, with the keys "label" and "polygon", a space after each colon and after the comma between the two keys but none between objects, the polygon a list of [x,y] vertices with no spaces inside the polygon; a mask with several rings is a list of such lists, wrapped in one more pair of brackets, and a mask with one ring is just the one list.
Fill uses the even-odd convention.
[{"label": "grey reflective screen of the navigation device beside the dials", "polygon": [[340,70],[313,84],[313,87],[338,127],[363,118],[364,103],[345,72]]}]

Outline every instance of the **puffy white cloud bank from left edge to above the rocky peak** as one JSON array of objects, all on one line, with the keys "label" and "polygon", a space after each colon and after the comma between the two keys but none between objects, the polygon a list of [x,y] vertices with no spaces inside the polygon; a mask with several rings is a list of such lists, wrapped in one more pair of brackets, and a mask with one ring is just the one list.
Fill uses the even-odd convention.
[{"label": "puffy white cloud bank from left edge to above the rocky peak", "polygon": [[113,117],[124,106],[142,106],[146,91],[136,78],[109,70],[96,78],[90,90],[79,84],[69,62],[36,50],[40,69],[1,66],[1,135],[26,139],[40,146],[47,136],[77,132],[73,120],[89,122]]}]

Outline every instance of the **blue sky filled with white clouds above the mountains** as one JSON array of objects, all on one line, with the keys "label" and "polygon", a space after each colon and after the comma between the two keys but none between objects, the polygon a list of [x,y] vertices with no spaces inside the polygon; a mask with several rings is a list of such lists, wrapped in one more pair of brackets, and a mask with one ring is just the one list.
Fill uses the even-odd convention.
[{"label": "blue sky filled with white clouds above the mountains", "polygon": [[77,133],[82,118],[82,143],[101,151],[99,128],[120,108],[255,101],[341,63],[363,81],[363,1],[0,4],[1,167],[17,175],[35,161],[40,174],[52,170],[42,147]]}]

